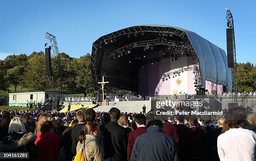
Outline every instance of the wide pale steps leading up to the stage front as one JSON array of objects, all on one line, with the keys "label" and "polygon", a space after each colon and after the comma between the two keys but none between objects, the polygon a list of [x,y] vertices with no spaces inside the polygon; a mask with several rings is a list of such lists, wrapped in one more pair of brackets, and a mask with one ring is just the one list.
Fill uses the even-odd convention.
[{"label": "wide pale steps leading up to the stage front", "polygon": [[[110,103],[110,102],[109,102]],[[109,104],[109,106],[98,106],[94,110],[100,112],[108,112],[112,107],[118,108],[121,112],[142,112],[143,104],[146,106],[146,113],[151,110],[151,101],[122,101],[115,102],[116,104]]]}]

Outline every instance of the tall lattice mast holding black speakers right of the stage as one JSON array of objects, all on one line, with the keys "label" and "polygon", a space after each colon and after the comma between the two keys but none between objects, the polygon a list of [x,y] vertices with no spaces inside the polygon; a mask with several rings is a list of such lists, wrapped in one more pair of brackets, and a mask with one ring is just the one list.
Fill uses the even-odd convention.
[{"label": "tall lattice mast holding black speakers right of the stage", "polygon": [[237,104],[237,93],[238,93],[238,86],[237,86],[237,64],[236,64],[236,42],[235,42],[235,32],[234,32],[234,21],[233,16],[230,12],[230,10],[227,10],[226,18],[228,20],[227,26],[228,28],[232,29],[232,47],[233,47],[233,62],[234,67],[232,68],[232,75],[233,75],[233,91],[235,92],[235,97],[232,97],[233,103]]}]

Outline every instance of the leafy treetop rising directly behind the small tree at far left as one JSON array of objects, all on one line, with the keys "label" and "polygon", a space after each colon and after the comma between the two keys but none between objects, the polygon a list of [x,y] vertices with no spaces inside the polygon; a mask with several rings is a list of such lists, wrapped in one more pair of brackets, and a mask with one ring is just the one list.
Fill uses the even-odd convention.
[{"label": "leafy treetop rising directly behind the small tree at far left", "polygon": [[25,63],[28,60],[27,55],[26,54],[19,54],[19,55],[8,55],[5,58],[5,64],[7,69],[11,69],[14,68],[18,65],[23,65],[23,63]]}]

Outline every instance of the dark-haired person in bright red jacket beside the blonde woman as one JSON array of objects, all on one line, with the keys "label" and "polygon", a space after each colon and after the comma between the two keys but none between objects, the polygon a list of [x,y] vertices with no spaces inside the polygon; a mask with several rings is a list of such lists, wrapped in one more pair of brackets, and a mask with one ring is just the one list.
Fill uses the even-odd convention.
[{"label": "dark-haired person in bright red jacket beside the blonde woman", "polygon": [[45,121],[40,131],[35,141],[38,149],[36,161],[56,161],[59,154],[59,136],[52,132],[52,122]]}]

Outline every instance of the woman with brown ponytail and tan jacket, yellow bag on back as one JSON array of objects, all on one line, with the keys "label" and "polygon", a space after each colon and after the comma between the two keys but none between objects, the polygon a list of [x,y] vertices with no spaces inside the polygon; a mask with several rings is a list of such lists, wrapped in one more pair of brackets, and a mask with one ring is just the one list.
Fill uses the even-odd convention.
[{"label": "woman with brown ponytail and tan jacket, yellow bag on back", "polygon": [[[77,153],[83,151],[86,161],[103,161],[103,155],[100,151],[100,144],[97,138],[99,125],[95,122],[89,122],[79,135],[77,144]],[[85,137],[84,137],[85,134]]]}]

